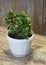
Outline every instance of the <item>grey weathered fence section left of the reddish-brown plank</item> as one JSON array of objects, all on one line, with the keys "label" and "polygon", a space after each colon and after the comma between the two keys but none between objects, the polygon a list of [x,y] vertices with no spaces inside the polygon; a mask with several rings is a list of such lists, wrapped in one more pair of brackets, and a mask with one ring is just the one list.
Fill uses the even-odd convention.
[{"label": "grey weathered fence section left of the reddish-brown plank", "polygon": [[0,25],[4,24],[2,19],[10,9],[15,10],[16,14],[25,11],[34,21],[34,0],[0,0]]}]

